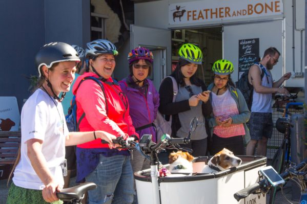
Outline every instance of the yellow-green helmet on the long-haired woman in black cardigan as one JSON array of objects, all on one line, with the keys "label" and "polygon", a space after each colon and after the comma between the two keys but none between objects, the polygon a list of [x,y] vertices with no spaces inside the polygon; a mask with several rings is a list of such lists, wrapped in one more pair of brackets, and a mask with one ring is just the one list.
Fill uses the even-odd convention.
[{"label": "yellow-green helmet on the long-haired woman in black cardigan", "polygon": [[181,59],[185,59],[191,63],[201,64],[202,62],[202,52],[194,44],[191,43],[182,44],[178,54]]}]

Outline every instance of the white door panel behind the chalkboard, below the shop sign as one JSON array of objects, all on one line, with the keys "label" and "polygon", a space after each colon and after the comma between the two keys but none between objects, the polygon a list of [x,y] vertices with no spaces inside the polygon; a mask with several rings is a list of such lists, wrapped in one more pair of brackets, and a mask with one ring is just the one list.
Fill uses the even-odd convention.
[{"label": "white door panel behind the chalkboard, below the shop sign", "polygon": [[[250,57],[249,52],[253,54],[253,51],[249,51],[249,47],[252,45],[247,44],[249,41],[258,41],[257,47],[259,48],[259,57],[263,57],[263,53],[269,47],[275,47],[281,53],[279,62],[274,66],[271,71],[274,79],[279,79],[284,69],[284,37],[283,37],[283,20],[271,20],[266,22],[254,22],[240,25],[225,25],[223,27],[223,58],[233,62],[235,67],[232,79],[234,82],[238,81],[239,73],[238,66],[239,60],[245,60],[253,62],[253,57]],[[267,32],[270,31],[270,32]],[[244,42],[243,44],[240,42]],[[242,49],[245,49],[239,57]],[[245,47],[245,48],[244,48]],[[246,55],[244,55],[247,53]],[[258,53],[257,53],[258,54]],[[245,58],[244,58],[245,57]],[[258,59],[259,60],[259,59]],[[253,63],[252,63],[253,64]],[[246,67],[249,69],[250,66]]]}]

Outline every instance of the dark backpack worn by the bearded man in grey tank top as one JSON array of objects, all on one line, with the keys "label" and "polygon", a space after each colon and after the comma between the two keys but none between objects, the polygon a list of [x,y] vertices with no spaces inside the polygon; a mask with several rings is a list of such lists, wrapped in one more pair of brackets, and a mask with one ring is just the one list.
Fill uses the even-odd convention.
[{"label": "dark backpack worn by the bearded man in grey tank top", "polygon": [[[260,69],[261,69],[261,81],[264,76],[265,70],[262,64],[260,63],[255,63],[257,64]],[[251,110],[252,104],[253,104],[253,93],[254,93],[254,86],[250,84],[249,82],[249,70],[245,71],[242,75],[241,78],[237,82],[237,88],[241,91],[249,109]]]}]

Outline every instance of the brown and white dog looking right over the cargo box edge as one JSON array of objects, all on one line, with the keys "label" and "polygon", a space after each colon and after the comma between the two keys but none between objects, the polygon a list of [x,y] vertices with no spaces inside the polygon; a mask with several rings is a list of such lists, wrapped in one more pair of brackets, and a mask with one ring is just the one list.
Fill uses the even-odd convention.
[{"label": "brown and white dog looking right over the cargo box edge", "polygon": [[204,166],[201,173],[216,173],[239,166],[241,162],[242,160],[235,156],[232,151],[224,148],[209,160],[208,165]]}]

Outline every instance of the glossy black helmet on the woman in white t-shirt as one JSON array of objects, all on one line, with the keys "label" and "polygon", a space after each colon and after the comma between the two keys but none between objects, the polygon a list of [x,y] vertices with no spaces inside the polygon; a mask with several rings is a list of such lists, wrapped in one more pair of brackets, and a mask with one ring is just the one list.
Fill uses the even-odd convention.
[{"label": "glossy black helmet on the woman in white t-shirt", "polygon": [[46,65],[48,69],[56,62],[75,61],[79,62],[78,53],[73,47],[65,42],[50,42],[45,44],[35,56],[35,65],[41,75],[40,66]]}]

